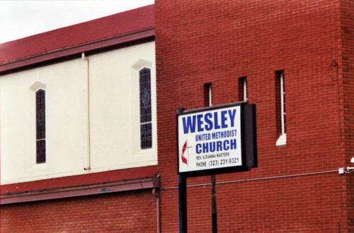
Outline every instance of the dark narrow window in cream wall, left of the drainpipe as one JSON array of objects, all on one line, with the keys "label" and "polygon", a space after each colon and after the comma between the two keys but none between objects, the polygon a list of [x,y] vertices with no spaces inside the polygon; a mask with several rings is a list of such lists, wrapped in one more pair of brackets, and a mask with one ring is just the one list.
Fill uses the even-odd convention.
[{"label": "dark narrow window in cream wall, left of the drainpipe", "polygon": [[45,162],[45,90],[35,92],[36,162]]}]

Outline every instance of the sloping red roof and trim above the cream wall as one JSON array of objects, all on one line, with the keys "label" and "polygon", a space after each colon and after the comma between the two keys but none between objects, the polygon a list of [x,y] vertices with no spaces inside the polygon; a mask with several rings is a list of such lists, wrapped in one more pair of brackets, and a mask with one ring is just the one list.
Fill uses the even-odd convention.
[{"label": "sloping red roof and trim above the cream wall", "polygon": [[0,73],[147,37],[154,37],[154,5],[0,44]]}]

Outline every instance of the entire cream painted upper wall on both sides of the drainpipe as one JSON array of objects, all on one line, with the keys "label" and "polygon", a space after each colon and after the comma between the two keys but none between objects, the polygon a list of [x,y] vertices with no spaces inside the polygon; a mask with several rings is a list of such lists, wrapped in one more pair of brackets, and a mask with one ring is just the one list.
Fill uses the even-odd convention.
[{"label": "entire cream painted upper wall on both sides of the drainpipe", "polygon": [[[0,76],[1,184],[157,164],[154,42]],[[140,150],[139,69],[152,70],[153,148]],[[35,162],[35,91],[45,89],[47,162]]]}]

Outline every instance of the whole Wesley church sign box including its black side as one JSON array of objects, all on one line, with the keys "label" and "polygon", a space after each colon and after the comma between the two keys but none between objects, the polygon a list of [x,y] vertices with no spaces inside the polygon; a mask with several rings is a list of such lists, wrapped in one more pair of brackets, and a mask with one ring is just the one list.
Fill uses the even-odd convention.
[{"label": "whole Wesley church sign box including its black side", "polygon": [[177,114],[178,174],[200,176],[256,167],[256,107],[240,102]]}]

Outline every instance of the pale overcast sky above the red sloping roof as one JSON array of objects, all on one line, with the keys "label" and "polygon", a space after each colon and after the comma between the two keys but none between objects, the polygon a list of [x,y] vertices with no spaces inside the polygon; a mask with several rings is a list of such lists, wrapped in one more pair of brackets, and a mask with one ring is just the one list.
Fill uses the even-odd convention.
[{"label": "pale overcast sky above the red sloping roof", "polygon": [[154,0],[0,0],[0,43],[150,4]]}]

